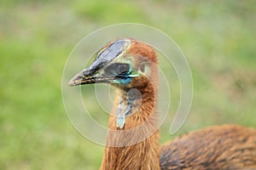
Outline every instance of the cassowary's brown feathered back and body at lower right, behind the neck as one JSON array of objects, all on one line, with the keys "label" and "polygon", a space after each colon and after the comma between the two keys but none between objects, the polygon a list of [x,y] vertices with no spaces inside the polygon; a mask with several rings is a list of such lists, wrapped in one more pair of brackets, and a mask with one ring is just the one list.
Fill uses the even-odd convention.
[{"label": "cassowary's brown feathered back and body at lower right, behind the neck", "polygon": [[256,131],[238,125],[207,127],[163,145],[161,169],[256,169]]}]

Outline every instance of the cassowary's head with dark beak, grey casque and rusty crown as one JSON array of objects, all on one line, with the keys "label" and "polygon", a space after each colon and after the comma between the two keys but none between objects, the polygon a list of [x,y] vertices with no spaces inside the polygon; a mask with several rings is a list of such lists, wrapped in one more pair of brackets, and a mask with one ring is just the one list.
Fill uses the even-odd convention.
[{"label": "cassowary's head with dark beak, grey casque and rusty crown", "polygon": [[69,86],[103,82],[125,90],[145,88],[157,77],[156,58],[148,44],[118,39],[99,50],[94,62],[73,77]]}]

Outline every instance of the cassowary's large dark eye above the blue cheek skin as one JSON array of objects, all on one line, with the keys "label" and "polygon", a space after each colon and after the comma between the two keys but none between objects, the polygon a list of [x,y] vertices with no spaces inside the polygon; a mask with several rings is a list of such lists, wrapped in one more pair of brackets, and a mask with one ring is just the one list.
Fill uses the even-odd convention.
[{"label": "cassowary's large dark eye above the blue cheek skin", "polygon": [[126,75],[130,71],[130,66],[124,63],[114,63],[113,65],[109,65],[105,69],[105,73],[108,75]]}]

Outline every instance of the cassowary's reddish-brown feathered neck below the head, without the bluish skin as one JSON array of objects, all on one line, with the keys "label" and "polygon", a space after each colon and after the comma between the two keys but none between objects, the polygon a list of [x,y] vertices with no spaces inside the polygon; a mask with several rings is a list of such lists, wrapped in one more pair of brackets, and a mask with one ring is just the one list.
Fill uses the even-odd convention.
[{"label": "cassowary's reddish-brown feathered neck below the head, without the bluish skin", "polygon": [[[129,91],[118,89],[116,102],[109,117],[102,170],[160,169],[160,144],[154,89],[150,83],[147,87],[137,89],[141,97],[132,99],[131,113],[125,116],[125,125],[122,128],[116,123],[119,103],[122,101],[125,106],[128,105]],[[124,108],[127,109],[125,106]]]}]

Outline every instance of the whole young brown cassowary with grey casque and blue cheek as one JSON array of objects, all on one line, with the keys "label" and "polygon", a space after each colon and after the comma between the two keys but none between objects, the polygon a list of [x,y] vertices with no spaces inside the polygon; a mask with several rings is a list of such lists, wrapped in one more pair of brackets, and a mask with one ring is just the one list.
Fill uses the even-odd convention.
[{"label": "whole young brown cassowary with grey casque and blue cheek", "polygon": [[160,147],[157,55],[131,38],[108,43],[70,86],[104,82],[117,89],[101,169],[256,169],[256,131],[207,127]]}]

